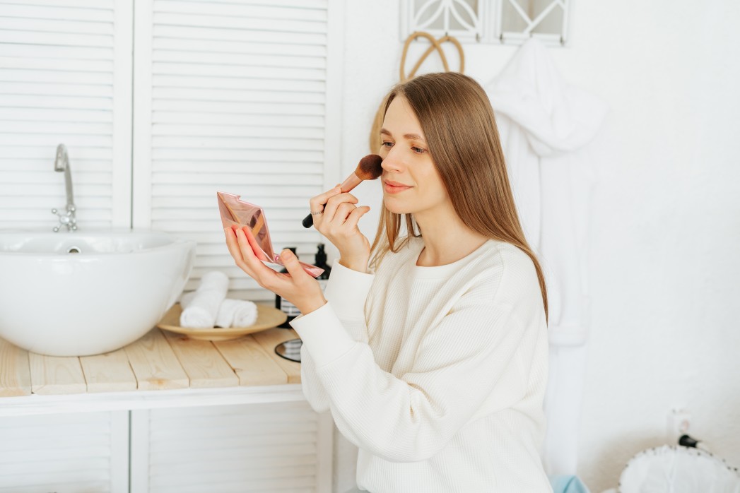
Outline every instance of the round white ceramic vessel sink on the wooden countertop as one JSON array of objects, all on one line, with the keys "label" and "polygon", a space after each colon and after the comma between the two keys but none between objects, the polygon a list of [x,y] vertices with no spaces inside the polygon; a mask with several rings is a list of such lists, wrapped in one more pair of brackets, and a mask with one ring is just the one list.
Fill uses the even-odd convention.
[{"label": "round white ceramic vessel sink on the wooden countertop", "polygon": [[156,231],[0,231],[0,337],[34,353],[107,353],[184,288],[195,242]]}]

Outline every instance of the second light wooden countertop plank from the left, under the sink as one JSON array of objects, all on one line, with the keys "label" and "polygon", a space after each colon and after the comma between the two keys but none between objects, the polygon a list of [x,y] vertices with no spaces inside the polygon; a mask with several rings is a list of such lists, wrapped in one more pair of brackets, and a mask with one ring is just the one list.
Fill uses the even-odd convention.
[{"label": "second light wooden countertop plank from the left, under the sink", "polygon": [[87,392],[80,359],[76,356],[44,356],[28,353],[31,392],[38,395]]}]

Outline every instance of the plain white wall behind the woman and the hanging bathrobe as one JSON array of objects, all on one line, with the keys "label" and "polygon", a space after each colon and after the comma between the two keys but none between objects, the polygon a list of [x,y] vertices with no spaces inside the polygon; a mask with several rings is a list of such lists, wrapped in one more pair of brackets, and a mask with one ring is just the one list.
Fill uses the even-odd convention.
[{"label": "plain white wall behind the woman and the hanging bathrobe", "polygon": [[[739,22],[733,0],[575,0],[571,46],[551,50],[565,80],[611,108],[593,163],[580,437],[579,475],[593,492],[616,486],[636,452],[665,443],[673,407],[740,466],[740,324],[730,310],[740,299]],[[346,24],[343,174],[369,153],[403,45],[397,0],[348,2]],[[465,72],[485,84],[514,50],[465,45]],[[380,188],[356,194],[375,206],[361,224],[370,236]],[[351,486],[351,454],[338,440],[337,492]]]}]

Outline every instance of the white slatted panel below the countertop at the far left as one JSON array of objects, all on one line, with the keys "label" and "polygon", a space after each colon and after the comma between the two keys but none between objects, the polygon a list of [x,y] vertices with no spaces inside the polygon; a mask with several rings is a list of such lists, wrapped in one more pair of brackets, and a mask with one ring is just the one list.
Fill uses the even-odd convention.
[{"label": "white slatted panel below the countertop at the far left", "polygon": [[128,492],[128,413],[0,420],[0,492]]}]

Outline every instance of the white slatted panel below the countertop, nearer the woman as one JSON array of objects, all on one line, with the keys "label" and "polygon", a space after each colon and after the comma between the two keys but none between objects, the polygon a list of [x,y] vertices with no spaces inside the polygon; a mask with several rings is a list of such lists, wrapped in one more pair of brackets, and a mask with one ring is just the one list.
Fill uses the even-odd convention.
[{"label": "white slatted panel below the countertop, nearer the woman", "polygon": [[317,491],[320,425],[305,401],[152,409],[148,428],[150,492]]}]

